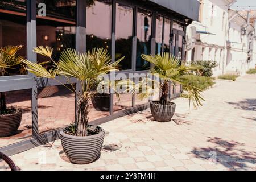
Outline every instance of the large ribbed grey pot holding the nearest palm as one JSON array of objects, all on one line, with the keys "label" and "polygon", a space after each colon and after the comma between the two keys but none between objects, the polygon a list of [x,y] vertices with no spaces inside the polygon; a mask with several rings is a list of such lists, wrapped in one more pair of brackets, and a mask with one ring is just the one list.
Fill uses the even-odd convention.
[{"label": "large ribbed grey pot holding the nearest palm", "polygon": [[100,156],[105,132],[85,137],[73,136],[60,131],[60,140],[68,159],[75,164],[88,164]]}]

